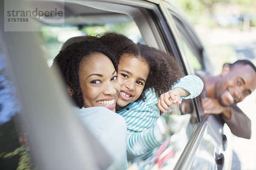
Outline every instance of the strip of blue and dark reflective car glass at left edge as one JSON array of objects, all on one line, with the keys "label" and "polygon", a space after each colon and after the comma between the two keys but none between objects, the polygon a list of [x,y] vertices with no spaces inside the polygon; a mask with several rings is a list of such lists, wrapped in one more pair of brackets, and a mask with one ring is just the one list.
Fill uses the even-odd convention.
[{"label": "strip of blue and dark reflective car glass at left edge", "polygon": [[29,136],[0,36],[0,169],[33,170]]}]

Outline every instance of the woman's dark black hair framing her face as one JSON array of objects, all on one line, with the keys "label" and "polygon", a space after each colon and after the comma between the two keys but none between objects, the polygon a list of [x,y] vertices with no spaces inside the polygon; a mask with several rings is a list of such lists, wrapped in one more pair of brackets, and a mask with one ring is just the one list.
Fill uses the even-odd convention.
[{"label": "woman's dark black hair framing her face", "polygon": [[97,42],[75,42],[60,51],[53,60],[52,68],[57,68],[61,71],[64,82],[74,91],[72,99],[79,108],[82,108],[84,104],[79,82],[79,64],[83,59],[95,53],[105,54],[111,59],[116,72],[118,71],[116,57],[111,50],[106,45]]}]

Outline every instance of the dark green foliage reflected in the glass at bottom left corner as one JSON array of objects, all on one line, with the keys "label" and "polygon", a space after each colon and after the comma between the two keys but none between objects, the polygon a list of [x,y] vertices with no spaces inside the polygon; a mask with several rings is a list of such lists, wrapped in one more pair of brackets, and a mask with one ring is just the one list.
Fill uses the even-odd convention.
[{"label": "dark green foliage reflected in the glass at bottom left corner", "polygon": [[[16,114],[16,116],[21,115]],[[37,169],[31,161],[25,125],[20,129],[21,133],[17,134],[13,119],[0,125],[0,169]]]}]

